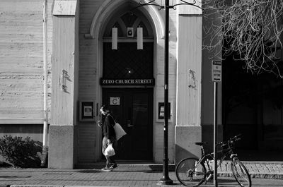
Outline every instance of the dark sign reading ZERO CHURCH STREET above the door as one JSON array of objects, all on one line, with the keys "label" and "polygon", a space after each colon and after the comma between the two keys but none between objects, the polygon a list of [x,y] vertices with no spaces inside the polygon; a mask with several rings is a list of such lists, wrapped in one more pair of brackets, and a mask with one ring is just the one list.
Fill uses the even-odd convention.
[{"label": "dark sign reading ZERO CHURCH STREET above the door", "polygon": [[101,78],[100,85],[154,85],[154,78]]}]

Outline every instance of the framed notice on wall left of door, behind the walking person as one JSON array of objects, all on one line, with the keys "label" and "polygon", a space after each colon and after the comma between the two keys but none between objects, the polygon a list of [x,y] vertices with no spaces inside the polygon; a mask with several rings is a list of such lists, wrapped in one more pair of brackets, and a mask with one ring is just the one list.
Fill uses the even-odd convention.
[{"label": "framed notice on wall left of door, behind the walking person", "polygon": [[94,101],[81,101],[79,106],[80,121],[94,121]]}]

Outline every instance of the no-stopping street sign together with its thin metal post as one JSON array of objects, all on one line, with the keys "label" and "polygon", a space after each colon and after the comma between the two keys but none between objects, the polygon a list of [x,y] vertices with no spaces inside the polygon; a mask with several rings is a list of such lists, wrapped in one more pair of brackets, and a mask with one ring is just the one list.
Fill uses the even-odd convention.
[{"label": "no-stopping street sign together with its thin metal post", "polygon": [[214,187],[218,186],[217,183],[217,84],[221,82],[221,61],[212,61],[212,81],[214,82],[214,105],[213,105],[213,145],[214,145],[214,174],[213,181]]}]

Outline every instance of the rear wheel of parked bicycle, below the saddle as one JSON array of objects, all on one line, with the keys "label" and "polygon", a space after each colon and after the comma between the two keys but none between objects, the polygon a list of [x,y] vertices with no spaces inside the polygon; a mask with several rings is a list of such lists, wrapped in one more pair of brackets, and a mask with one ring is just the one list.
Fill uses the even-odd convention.
[{"label": "rear wheel of parked bicycle, below the saddle", "polygon": [[185,158],[176,167],[176,176],[184,186],[200,186],[204,182],[207,170],[196,158]]}]

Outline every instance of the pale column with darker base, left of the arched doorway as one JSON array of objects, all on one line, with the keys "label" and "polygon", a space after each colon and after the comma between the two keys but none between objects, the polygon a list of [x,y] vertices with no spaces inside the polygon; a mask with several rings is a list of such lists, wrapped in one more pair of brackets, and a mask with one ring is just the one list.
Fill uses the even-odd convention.
[{"label": "pale column with darker base, left of the arched doorway", "polygon": [[77,1],[54,1],[49,168],[73,169],[76,162],[79,77],[77,5]]}]

